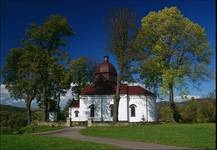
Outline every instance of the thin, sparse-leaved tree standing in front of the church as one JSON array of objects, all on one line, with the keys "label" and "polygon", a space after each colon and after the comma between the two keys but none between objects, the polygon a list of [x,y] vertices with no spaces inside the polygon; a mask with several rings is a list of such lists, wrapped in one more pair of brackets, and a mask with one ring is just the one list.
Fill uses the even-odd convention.
[{"label": "thin, sparse-leaved tree standing in front of the church", "polygon": [[114,10],[109,18],[110,48],[109,51],[116,56],[119,74],[114,96],[113,121],[118,121],[118,108],[120,101],[121,81],[130,78],[129,66],[135,53],[134,42],[137,33],[136,15],[128,9]]}]

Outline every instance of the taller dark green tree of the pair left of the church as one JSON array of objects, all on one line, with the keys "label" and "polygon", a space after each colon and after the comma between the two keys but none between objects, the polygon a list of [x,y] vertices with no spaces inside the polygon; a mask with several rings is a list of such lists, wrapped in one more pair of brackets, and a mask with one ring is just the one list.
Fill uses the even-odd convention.
[{"label": "taller dark green tree of the pair left of the church", "polygon": [[[63,16],[51,15],[41,26],[32,24],[26,31],[23,45],[37,47],[36,55],[38,66],[37,100],[44,108],[44,120],[47,121],[48,105],[54,99],[56,93],[62,91],[62,83],[58,83],[62,77],[66,53],[61,50],[66,45],[65,37],[73,35],[72,29]],[[57,92],[58,91],[58,92]]]}]

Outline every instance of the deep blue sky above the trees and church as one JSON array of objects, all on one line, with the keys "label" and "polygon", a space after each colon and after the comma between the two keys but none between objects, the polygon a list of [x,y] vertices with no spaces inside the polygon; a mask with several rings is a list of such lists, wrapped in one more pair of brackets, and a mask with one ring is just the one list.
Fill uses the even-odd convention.
[{"label": "deep blue sky above the trees and church", "polygon": [[[210,47],[215,51],[215,3],[215,0],[1,0],[1,68],[8,51],[19,46],[28,25],[41,24],[51,14],[66,16],[76,33],[68,39],[65,49],[71,58],[88,56],[102,61],[109,40],[108,12],[123,7],[134,10],[141,20],[150,11],[176,6],[184,16],[205,28]],[[110,62],[116,64],[115,58],[109,56]],[[215,55],[211,61],[214,70]],[[190,87],[190,91],[192,95],[203,96],[215,87],[215,81],[209,80],[202,83],[200,90]]]}]

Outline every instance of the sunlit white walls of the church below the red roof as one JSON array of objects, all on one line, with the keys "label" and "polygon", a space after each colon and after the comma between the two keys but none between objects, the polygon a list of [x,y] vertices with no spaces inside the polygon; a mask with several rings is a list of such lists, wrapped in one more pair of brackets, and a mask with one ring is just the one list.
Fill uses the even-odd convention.
[{"label": "sunlit white walls of the church below the red roof", "polygon": [[[119,121],[127,121],[127,96],[121,95],[119,102]],[[147,98],[147,100],[146,100]],[[146,101],[148,102],[146,105]],[[91,96],[81,96],[80,97],[80,107],[70,108],[72,114],[72,121],[87,121],[90,119],[90,108],[91,104],[95,105],[95,115],[94,121],[112,121],[110,116],[109,106],[113,104],[112,95],[91,95]],[[131,111],[129,108],[129,121],[130,122],[142,122],[156,121],[156,101],[153,97],[144,95],[130,95],[129,96],[129,106],[131,104],[136,105],[136,115],[131,117]],[[146,109],[147,108],[147,109]],[[78,117],[75,117],[75,111],[79,111]],[[70,114],[69,114],[70,115]]]}]

